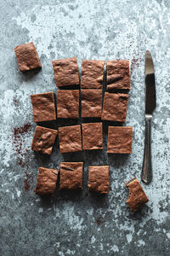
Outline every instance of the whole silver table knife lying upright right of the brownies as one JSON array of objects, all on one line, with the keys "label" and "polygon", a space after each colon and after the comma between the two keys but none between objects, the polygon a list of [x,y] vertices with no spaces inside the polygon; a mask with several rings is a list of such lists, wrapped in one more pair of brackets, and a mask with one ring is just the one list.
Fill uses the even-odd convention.
[{"label": "whole silver table knife lying upright right of the brownies", "polygon": [[151,119],[152,113],[156,108],[156,82],[154,73],[154,64],[150,51],[145,52],[145,138],[144,138],[144,161],[141,179],[144,183],[150,183],[152,180],[151,165]]}]

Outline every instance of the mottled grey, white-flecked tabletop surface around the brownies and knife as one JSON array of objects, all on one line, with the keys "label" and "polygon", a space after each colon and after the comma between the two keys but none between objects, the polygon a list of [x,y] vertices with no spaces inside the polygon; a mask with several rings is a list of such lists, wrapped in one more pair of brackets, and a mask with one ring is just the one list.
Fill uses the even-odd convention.
[{"label": "mottled grey, white-flecked tabletop surface around the brownies and knife", "polygon": [[[1,0],[0,255],[169,255],[169,14],[168,0]],[[22,74],[14,47],[30,41],[42,71]],[[143,185],[149,203],[134,214],[127,209],[123,184],[134,175],[140,179],[142,168],[145,49],[156,70],[154,177]],[[51,60],[71,56],[77,56],[80,68],[84,58],[131,61],[126,125],[133,125],[133,154],[106,154],[107,124],[103,152],[60,155],[59,143],[49,158],[31,152],[36,124],[30,95],[57,92]],[[57,191],[53,200],[41,200],[33,192],[37,168],[59,168],[61,160],[84,161],[84,189],[76,195]],[[95,164],[110,166],[108,196],[87,194],[88,166]]]}]

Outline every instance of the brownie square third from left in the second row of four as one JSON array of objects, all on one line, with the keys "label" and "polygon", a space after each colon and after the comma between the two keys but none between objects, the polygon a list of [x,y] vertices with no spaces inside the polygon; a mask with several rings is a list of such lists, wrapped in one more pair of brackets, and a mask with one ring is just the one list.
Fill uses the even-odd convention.
[{"label": "brownie square third from left in the second row of four", "polygon": [[102,90],[81,90],[82,118],[101,118]]}]

